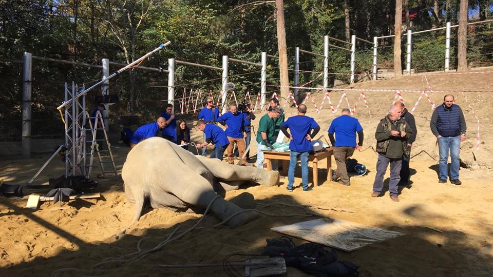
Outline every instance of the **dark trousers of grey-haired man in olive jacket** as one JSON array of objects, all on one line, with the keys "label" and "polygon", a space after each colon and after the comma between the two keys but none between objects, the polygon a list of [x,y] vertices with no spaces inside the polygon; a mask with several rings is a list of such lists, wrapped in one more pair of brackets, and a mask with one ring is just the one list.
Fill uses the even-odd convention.
[{"label": "dark trousers of grey-haired man in olive jacket", "polygon": [[389,191],[390,195],[397,195],[397,184],[401,180],[401,166],[402,158],[390,159],[382,154],[378,154],[378,161],[376,162],[376,175],[375,181],[373,182],[373,191],[381,192],[384,187],[384,176],[387,172],[387,167],[390,163],[390,182]]}]

